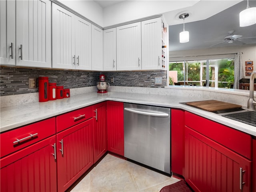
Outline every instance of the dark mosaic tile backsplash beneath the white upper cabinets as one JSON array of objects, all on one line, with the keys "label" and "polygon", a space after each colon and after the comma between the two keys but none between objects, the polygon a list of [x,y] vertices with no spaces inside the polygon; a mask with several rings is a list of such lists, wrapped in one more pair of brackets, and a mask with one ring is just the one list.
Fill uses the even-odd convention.
[{"label": "dark mosaic tile backsplash beneath the white upper cabinets", "polygon": [[[161,87],[166,85],[166,71],[102,72],[110,86]],[[14,95],[38,92],[38,77],[47,76],[49,82],[56,82],[64,88],[96,86],[101,72],[51,70],[38,68],[0,67],[0,95]],[[110,78],[114,77],[114,83]],[[155,77],[162,77],[162,84],[154,84]],[[28,88],[28,78],[36,78],[37,88]]]}]

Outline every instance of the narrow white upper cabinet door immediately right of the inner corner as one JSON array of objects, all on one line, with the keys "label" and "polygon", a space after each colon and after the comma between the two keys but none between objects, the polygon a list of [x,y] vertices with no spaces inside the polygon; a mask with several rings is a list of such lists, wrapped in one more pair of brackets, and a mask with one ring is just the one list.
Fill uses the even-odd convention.
[{"label": "narrow white upper cabinet door immediately right of the inner corner", "polygon": [[116,71],[116,28],[103,31],[103,70]]}]

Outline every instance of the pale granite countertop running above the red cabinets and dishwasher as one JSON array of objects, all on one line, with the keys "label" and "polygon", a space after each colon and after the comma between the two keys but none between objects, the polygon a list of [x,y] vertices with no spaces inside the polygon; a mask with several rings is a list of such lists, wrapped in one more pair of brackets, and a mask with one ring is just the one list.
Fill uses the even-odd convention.
[{"label": "pale granite countertop running above the red cabinets and dishwasher", "polygon": [[0,132],[11,130],[13,128],[24,126],[26,124],[37,122],[106,100],[179,108],[256,136],[256,127],[254,126],[231,120],[212,112],[207,112],[198,108],[180,104],[182,102],[198,100],[196,98],[190,98],[187,96],[177,97],[159,94],[139,94],[127,92],[108,92],[105,94],[90,92],[86,94],[74,95],[70,98],[60,100],[34,102],[4,107],[1,108]]}]

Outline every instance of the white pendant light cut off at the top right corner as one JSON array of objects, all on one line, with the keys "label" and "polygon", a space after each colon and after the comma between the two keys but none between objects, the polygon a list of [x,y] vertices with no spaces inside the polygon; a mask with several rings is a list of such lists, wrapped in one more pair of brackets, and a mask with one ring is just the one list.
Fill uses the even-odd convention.
[{"label": "white pendant light cut off at the top right corner", "polygon": [[249,7],[249,0],[247,0],[246,9],[239,14],[240,27],[246,27],[256,24],[256,7]]}]

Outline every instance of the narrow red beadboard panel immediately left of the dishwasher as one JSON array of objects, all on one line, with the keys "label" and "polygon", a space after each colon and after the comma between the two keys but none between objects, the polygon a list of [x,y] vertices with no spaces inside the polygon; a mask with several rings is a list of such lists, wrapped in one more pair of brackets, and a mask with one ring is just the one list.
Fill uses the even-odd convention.
[{"label": "narrow red beadboard panel immediately left of the dishwasher", "polygon": [[107,101],[108,151],[124,156],[124,104]]}]

